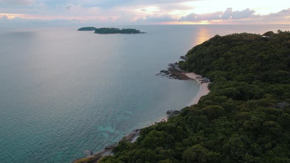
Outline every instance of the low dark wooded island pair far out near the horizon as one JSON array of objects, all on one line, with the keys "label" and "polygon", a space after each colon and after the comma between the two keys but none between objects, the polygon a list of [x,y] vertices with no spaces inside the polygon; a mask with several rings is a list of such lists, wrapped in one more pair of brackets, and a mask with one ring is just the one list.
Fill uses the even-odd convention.
[{"label": "low dark wooded island pair far out near the horizon", "polygon": [[82,27],[79,28],[78,31],[92,31],[94,30],[94,33],[97,34],[140,34],[140,33],[145,33],[141,32],[138,29],[133,29],[133,28],[114,28],[114,27],[102,27],[102,28],[95,28],[95,27]]}]

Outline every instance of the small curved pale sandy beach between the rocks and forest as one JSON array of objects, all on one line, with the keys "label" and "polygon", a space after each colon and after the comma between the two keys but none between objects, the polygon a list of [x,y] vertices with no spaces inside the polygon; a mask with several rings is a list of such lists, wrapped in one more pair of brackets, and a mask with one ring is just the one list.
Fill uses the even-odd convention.
[{"label": "small curved pale sandy beach between the rocks and forest", "polygon": [[196,77],[198,75],[195,73],[186,73],[185,75],[188,76],[188,78],[191,78],[191,79],[197,81],[201,86],[201,89],[200,89],[198,95],[193,98],[192,103],[191,103],[191,105],[197,104],[199,102],[199,100],[201,99],[201,97],[203,97],[204,95],[207,95],[209,93],[209,89],[207,87],[209,83],[201,83],[201,81],[199,81],[199,79],[196,79]]}]

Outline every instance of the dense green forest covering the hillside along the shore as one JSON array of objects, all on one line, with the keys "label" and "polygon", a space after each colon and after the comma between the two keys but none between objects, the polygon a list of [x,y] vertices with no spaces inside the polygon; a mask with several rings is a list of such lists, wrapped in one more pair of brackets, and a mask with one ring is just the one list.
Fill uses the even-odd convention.
[{"label": "dense green forest covering the hillside along the shore", "polygon": [[179,66],[210,93],[98,163],[290,163],[290,32],[216,35]]}]

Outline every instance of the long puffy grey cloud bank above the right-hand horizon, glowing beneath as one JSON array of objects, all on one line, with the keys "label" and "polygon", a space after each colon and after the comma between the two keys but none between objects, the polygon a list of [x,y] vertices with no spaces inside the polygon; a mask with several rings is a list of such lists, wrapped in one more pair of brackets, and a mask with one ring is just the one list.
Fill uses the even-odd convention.
[{"label": "long puffy grey cloud bank above the right-hand horizon, glowing beneath", "polygon": [[290,8],[276,13],[270,13],[266,15],[255,14],[255,10],[246,8],[241,11],[233,11],[232,8],[227,8],[225,11],[217,11],[212,13],[197,14],[191,13],[180,18],[172,18],[169,15],[163,16],[145,16],[139,17],[136,23],[162,23],[162,22],[209,22],[214,24],[265,24],[267,22],[287,22],[290,21]]}]

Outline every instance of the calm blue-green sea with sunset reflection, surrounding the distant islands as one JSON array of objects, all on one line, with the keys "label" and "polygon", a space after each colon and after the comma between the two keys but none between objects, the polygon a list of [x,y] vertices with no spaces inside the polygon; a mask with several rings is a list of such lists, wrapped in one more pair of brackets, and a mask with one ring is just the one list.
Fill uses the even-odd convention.
[{"label": "calm blue-green sea with sunset reflection, surrounding the distant islands", "polygon": [[290,26],[136,26],[145,34],[0,28],[0,160],[69,163],[190,105],[194,81],[156,77],[215,34]]}]

